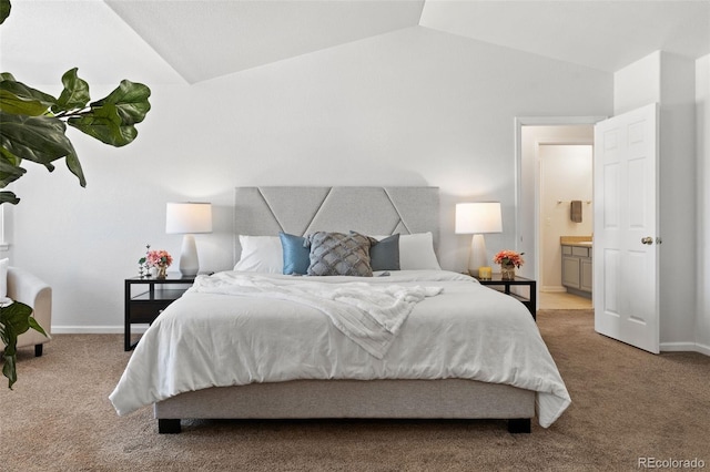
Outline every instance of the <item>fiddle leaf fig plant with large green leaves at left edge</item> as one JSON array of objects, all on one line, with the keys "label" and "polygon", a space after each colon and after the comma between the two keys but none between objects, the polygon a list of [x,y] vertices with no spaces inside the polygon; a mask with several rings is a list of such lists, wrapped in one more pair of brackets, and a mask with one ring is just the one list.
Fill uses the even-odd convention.
[{"label": "fiddle leaf fig plant with large green leaves at left edge", "polygon": [[[10,16],[10,0],[0,0],[0,24]],[[54,171],[54,162],[64,158],[79,185],[87,186],[79,156],[67,136],[74,127],[102,143],[125,146],[135,140],[138,130],[151,105],[151,90],[128,80],[101,100],[91,101],[89,84],[77,68],[62,75],[58,98],[18,81],[11,73],[0,73],[0,188],[21,178],[27,170],[23,161]],[[17,205],[20,198],[11,191],[0,191],[0,205]],[[11,300],[9,300],[11,301]],[[18,301],[0,304],[0,340],[6,345],[2,373],[10,388],[17,381],[16,348],[18,336],[28,329],[44,334],[32,317],[32,308]]]}]

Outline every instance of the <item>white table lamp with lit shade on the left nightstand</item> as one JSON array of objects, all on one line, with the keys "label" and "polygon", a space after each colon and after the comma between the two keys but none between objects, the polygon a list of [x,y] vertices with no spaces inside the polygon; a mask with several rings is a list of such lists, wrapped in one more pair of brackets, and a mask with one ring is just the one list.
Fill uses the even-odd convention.
[{"label": "white table lamp with lit shade on the left nightstand", "polygon": [[183,276],[194,276],[200,271],[200,260],[193,235],[212,233],[212,204],[169,202],[165,215],[165,233],[184,234],[180,253],[180,273]]}]

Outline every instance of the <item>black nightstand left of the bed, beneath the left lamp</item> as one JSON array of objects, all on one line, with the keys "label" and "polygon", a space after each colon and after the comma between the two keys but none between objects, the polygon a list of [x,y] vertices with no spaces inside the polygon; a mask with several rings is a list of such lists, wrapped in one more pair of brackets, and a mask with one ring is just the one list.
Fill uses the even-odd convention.
[{"label": "black nightstand left of the bed, beneath the left lamp", "polygon": [[[170,304],[182,296],[195,281],[195,276],[168,273],[165,278],[131,277],[124,284],[124,349],[130,351],[131,325],[152,324]],[[135,289],[135,290],[134,290]]]}]

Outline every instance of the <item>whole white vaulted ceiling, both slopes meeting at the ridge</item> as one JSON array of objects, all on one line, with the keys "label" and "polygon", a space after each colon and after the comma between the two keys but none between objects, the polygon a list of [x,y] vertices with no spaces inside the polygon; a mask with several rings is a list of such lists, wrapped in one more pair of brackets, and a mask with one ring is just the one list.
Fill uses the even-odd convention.
[{"label": "whole white vaulted ceiling, both slopes meeting at the ridge", "polygon": [[189,82],[408,27],[613,72],[710,53],[709,1],[106,0]]}]

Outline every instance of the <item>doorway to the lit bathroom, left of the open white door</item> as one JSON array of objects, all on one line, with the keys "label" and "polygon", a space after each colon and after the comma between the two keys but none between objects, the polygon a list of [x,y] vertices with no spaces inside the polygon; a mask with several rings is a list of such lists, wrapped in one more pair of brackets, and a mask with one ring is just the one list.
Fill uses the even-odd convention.
[{"label": "doorway to the lit bathroom, left of the open white door", "polygon": [[[528,255],[526,275],[538,281],[538,309],[592,308],[592,288],[580,281],[591,279],[594,123],[599,120],[532,117],[517,122],[517,237],[519,249]],[[574,254],[561,243],[574,243]],[[588,274],[581,273],[582,266]]]}]

